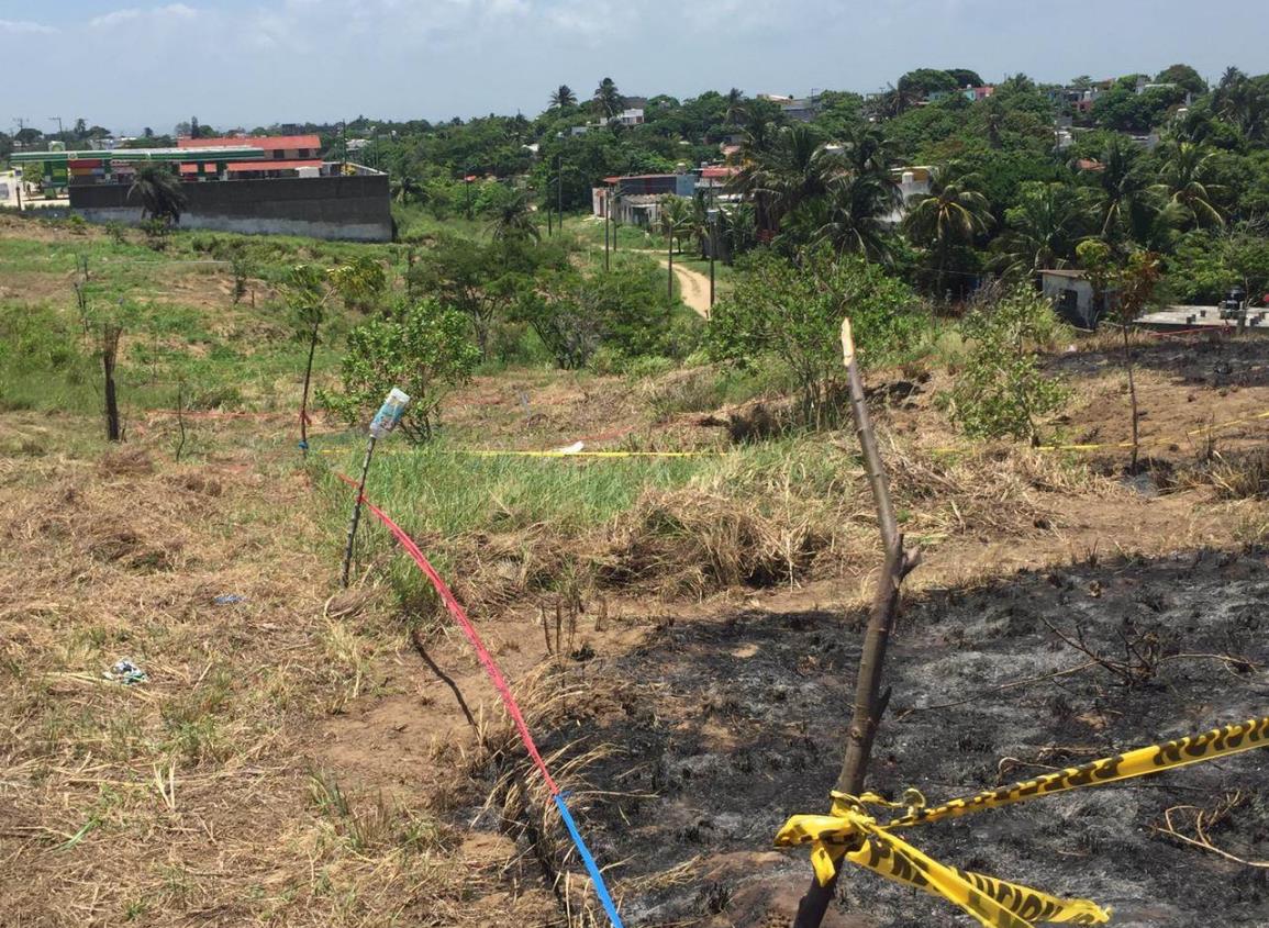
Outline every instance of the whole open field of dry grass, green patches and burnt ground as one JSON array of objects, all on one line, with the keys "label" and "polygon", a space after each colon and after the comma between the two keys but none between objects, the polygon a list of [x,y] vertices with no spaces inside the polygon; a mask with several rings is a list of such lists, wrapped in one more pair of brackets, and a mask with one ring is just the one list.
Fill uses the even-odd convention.
[{"label": "whole open field of dry grass, green patches and burnt ground", "polygon": [[[371,519],[340,588],[352,491],[338,474],[355,475],[360,434],[319,417],[307,459],[294,444],[303,346],[280,275],[359,254],[396,273],[401,250],[181,233],[155,252],[0,223],[0,923],[602,919],[480,664]],[[230,251],[250,256],[239,302],[232,269],[206,264]],[[126,326],[122,446],[102,437],[82,257],[90,311]],[[349,323],[319,355],[326,383]],[[924,551],[877,786],[972,791],[1251,711],[1269,663],[1255,634],[1264,344],[1137,345],[1151,454],[1131,480],[1122,449],[966,440],[940,401],[952,347],[868,371],[897,515]],[[1046,359],[1072,384],[1063,436],[1127,436],[1117,350]],[[164,412],[178,388],[184,436]],[[851,431],[798,429],[791,404],[774,366],[491,366],[447,397],[437,442],[392,435],[371,472],[367,496],[440,568],[510,678],[632,922],[787,923],[806,884],[805,857],[772,853],[768,825],[817,809],[831,783],[879,543]],[[575,442],[699,454],[480,454]],[[1124,686],[1042,621],[1076,617],[1115,661],[1123,640],[1157,657],[1155,676]],[[122,659],[146,680],[112,680]],[[1066,676],[1014,686],[1048,673]],[[917,701],[915,721],[898,718]],[[1151,837],[1148,816],[1237,786],[1220,837],[1263,856],[1269,785],[1250,767],[1209,772],[1202,796],[1161,780],[1105,815],[1080,806],[1039,835],[1061,858],[1052,875],[1013,849],[1008,863],[1188,928],[1187,886],[1242,871]],[[1108,834],[1171,914],[1142,914]],[[867,879],[855,908],[911,917]],[[1247,895],[1227,923],[1263,923],[1258,905]]]}]

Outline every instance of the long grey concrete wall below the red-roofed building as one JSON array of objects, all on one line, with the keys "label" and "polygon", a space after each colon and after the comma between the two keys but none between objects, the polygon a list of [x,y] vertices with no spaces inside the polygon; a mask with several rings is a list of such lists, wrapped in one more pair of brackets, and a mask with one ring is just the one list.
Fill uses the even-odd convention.
[{"label": "long grey concrete wall below the red-roofed building", "polygon": [[[181,184],[189,205],[180,228],[291,235],[355,242],[392,241],[386,174]],[[71,188],[71,208],[89,222],[141,222],[126,184]]]}]

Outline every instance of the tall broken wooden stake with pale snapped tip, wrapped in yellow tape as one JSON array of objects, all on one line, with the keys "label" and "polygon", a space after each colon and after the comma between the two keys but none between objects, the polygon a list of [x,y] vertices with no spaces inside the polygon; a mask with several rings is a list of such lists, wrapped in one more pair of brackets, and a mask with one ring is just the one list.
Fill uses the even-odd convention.
[{"label": "tall broken wooden stake with pale snapped tip, wrapped in yellow tape", "polygon": [[[873,502],[877,506],[877,522],[882,541],[886,545],[886,563],[877,590],[873,593],[872,609],[868,614],[868,629],[864,633],[863,653],[859,655],[859,673],[855,678],[854,711],[850,726],[846,729],[846,748],[838,773],[836,792],[858,796],[863,792],[868,775],[868,761],[872,756],[873,739],[881,724],[881,716],[890,702],[890,688],[882,691],[882,671],[886,664],[886,649],[895,621],[900,611],[900,590],[904,578],[921,562],[920,551],[904,548],[904,536],[898,532],[895,519],[895,505],[890,496],[886,468],[877,449],[877,435],[868,416],[864,399],[863,378],[855,363],[854,340],[850,333],[850,321],[841,323],[841,349],[846,363],[846,377],[850,384],[850,412],[855,421],[855,434],[864,454],[864,467],[868,486],[872,488]],[[840,872],[840,871],[839,871]],[[838,889],[838,875],[821,886],[815,877],[811,887],[798,903],[793,928],[819,928]]]}]

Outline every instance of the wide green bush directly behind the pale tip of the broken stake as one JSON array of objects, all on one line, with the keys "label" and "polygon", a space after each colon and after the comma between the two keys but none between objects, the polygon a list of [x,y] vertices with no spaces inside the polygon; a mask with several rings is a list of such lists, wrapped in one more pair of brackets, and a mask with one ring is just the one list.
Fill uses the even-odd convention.
[{"label": "wide green bush directly behind the pale tip of the broken stake", "polygon": [[756,252],[709,323],[713,358],[751,363],[774,355],[797,380],[805,420],[838,418],[841,321],[849,316],[864,361],[892,359],[928,323],[916,297],[878,265],[817,248],[794,265]]}]

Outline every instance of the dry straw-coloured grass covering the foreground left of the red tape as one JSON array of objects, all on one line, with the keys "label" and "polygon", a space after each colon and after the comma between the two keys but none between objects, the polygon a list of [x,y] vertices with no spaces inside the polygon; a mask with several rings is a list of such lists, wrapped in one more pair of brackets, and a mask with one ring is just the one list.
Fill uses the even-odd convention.
[{"label": "dry straw-coloured grass covering the foreground left of the red tape", "polygon": [[[500,884],[423,799],[310,772],[400,633],[373,602],[322,617],[289,475],[129,451],[3,477],[0,922],[453,923]],[[124,657],[147,682],[103,677]]]}]

